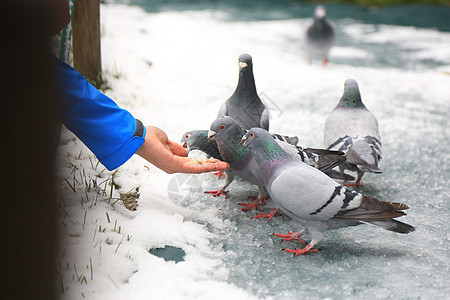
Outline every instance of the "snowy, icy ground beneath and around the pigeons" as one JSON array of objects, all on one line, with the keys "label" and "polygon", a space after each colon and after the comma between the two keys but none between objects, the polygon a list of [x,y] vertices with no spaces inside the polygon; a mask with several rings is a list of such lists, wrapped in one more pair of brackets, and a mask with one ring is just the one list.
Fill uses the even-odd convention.
[{"label": "snowy, icy ground beneath and around the pigeons", "polygon": [[[361,191],[409,205],[401,220],[416,232],[345,228],[326,232],[320,252],[291,257],[280,249],[298,245],[272,233],[298,231],[299,224],[240,210],[238,203],[257,193],[254,186],[236,181],[228,199],[213,198],[203,191],[223,179],[168,175],[137,156],[108,172],[63,129],[62,299],[448,297],[450,34],[343,19],[323,67],[305,59],[307,21],[229,21],[219,10],[148,13],[102,4],[102,59],[112,87],[106,93],[179,141],[185,131],[209,128],[236,86],[239,54],[249,53],[258,92],[271,108],[271,131],[323,147],[325,118],[345,79],[354,78],[378,117],[384,147],[383,173],[367,174]],[[138,207],[130,211],[119,193],[136,188]],[[165,246],[183,249],[184,260],[149,253]]]}]

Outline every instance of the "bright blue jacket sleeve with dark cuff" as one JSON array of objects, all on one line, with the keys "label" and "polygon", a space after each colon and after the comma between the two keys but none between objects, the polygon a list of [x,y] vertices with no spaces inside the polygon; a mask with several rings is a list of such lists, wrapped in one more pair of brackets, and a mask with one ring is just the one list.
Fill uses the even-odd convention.
[{"label": "bright blue jacket sleeve with dark cuff", "polygon": [[108,169],[125,163],[144,143],[145,127],[56,57],[63,124]]}]

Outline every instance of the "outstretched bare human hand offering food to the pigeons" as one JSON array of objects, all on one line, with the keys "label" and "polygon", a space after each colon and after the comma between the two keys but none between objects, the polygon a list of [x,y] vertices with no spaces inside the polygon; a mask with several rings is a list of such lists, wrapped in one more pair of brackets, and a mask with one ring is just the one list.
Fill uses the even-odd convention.
[{"label": "outstretched bare human hand offering food to the pigeons", "polygon": [[206,160],[199,163],[187,157],[186,149],[167,138],[161,129],[146,126],[145,142],[136,154],[166,173],[204,173],[228,169],[230,166],[220,160]]}]

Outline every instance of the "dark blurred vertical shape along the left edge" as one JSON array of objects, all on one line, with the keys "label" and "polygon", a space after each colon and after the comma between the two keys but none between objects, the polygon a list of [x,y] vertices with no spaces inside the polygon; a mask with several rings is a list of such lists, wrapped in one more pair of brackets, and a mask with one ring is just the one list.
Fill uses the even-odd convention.
[{"label": "dark blurred vertical shape along the left edge", "polygon": [[[4,299],[55,299],[56,87],[53,1],[2,1],[2,258]],[[53,29],[53,30],[52,30]]]}]

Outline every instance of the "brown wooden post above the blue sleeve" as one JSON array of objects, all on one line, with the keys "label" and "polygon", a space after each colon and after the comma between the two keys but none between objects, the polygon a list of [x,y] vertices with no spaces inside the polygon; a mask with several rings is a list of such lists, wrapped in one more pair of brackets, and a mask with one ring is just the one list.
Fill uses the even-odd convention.
[{"label": "brown wooden post above the blue sleeve", "polygon": [[91,83],[101,83],[100,0],[75,0],[73,65]]}]

